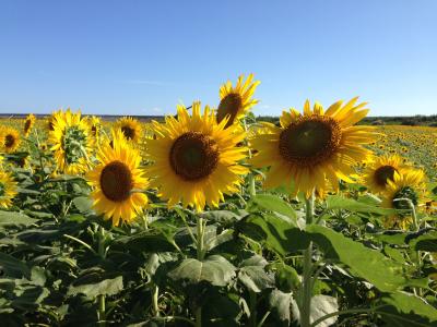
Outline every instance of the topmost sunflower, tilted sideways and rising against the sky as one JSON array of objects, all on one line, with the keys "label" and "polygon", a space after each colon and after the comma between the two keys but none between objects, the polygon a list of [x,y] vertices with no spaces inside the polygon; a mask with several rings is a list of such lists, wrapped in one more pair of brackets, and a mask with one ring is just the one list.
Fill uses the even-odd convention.
[{"label": "topmost sunflower, tilted sideways and rising against the sky", "polygon": [[249,74],[246,82],[244,75],[240,75],[237,85],[233,87],[231,81],[227,81],[220,87],[220,105],[217,108],[217,122],[222,122],[226,117],[228,121],[225,128],[237,122],[244,117],[247,111],[258,104],[258,100],[252,99],[252,95],[257,89],[260,81],[253,81],[253,74]]}]

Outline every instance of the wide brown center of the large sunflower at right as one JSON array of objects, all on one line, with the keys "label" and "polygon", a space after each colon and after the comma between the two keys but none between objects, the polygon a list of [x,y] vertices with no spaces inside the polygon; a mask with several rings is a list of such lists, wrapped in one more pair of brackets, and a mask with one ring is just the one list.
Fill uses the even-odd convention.
[{"label": "wide brown center of the large sunflower at right", "polygon": [[329,159],[339,148],[341,128],[327,116],[302,117],[280,135],[280,154],[300,167],[316,166]]}]

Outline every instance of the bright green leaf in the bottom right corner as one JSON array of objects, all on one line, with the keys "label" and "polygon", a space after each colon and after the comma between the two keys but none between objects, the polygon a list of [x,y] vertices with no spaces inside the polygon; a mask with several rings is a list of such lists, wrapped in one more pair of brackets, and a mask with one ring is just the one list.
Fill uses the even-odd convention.
[{"label": "bright green leaf in the bottom right corner", "polygon": [[397,292],[382,296],[381,302],[388,306],[378,313],[391,326],[437,326],[437,310],[418,296]]}]

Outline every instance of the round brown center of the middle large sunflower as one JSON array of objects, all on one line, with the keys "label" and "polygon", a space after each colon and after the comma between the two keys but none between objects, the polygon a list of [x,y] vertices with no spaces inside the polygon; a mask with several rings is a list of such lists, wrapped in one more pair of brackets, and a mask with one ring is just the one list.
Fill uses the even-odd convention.
[{"label": "round brown center of the middle large sunflower", "polygon": [[188,132],[175,141],[169,159],[176,174],[187,181],[196,181],[208,177],[217,167],[218,148],[208,135]]}]

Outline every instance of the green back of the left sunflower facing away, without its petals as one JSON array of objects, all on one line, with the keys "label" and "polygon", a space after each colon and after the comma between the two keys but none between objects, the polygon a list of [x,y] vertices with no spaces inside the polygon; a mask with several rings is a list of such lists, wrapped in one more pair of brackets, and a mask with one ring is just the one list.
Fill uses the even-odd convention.
[{"label": "green back of the left sunflower facing away, without its petals", "polygon": [[78,162],[86,152],[86,134],[79,126],[67,128],[63,134],[62,148],[68,165]]}]

